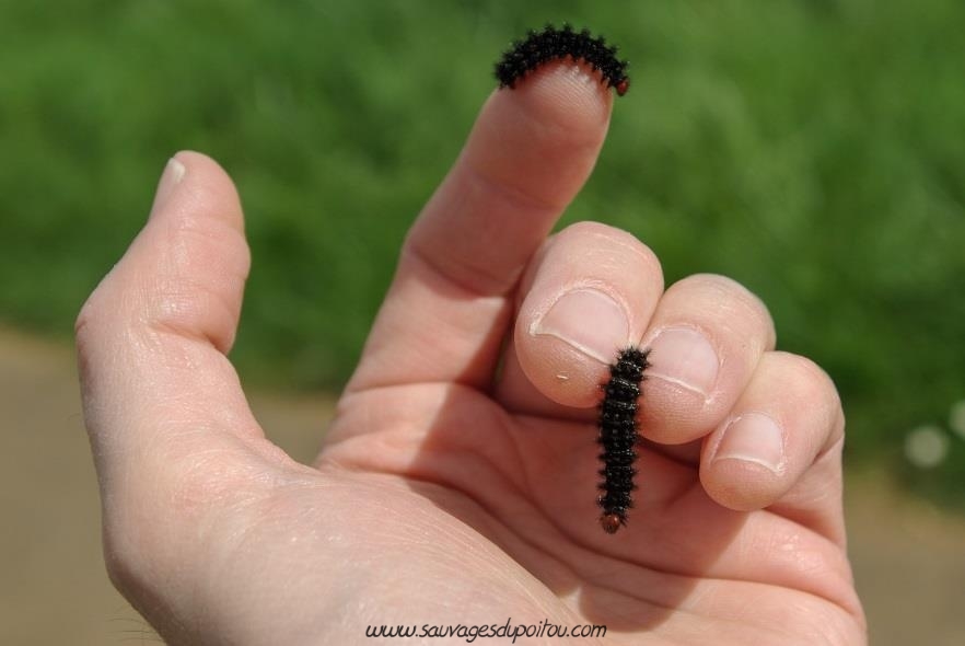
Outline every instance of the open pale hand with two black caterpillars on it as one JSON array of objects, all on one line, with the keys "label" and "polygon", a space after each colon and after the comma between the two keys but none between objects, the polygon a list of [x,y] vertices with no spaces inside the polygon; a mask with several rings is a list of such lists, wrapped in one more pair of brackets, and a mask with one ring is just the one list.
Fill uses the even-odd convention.
[{"label": "open pale hand with two black caterpillars on it", "polygon": [[[604,624],[601,644],[865,642],[830,379],[775,349],[733,280],[665,287],[653,251],[604,224],[549,235],[612,103],[570,65],[489,97],[312,465],[265,438],[225,357],[249,268],[235,188],[201,154],[168,163],[77,325],[108,572],[165,641],[511,618]],[[594,406],[631,344],[653,347],[646,439],[611,535]]]}]

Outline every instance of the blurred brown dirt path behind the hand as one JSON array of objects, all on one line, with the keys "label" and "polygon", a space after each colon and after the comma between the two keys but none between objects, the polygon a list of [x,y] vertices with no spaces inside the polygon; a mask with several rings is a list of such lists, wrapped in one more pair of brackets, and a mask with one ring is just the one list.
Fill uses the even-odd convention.
[{"label": "blurred brown dirt path behind the hand", "polygon": [[[306,461],[330,402],[253,396],[272,439]],[[114,591],[73,353],[0,328],[0,644],[108,646],[158,637]],[[874,646],[965,644],[965,519],[880,476],[849,478],[850,552]]]}]

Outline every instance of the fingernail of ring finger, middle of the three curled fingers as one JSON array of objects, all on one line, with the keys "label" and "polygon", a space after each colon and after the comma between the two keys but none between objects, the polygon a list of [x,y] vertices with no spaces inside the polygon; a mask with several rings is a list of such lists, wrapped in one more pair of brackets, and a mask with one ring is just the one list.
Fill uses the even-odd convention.
[{"label": "fingernail of ring finger, middle of the three curled fingers", "polygon": [[717,382],[720,359],[707,337],[691,327],[666,327],[650,343],[649,377],[700,393],[706,399]]}]

